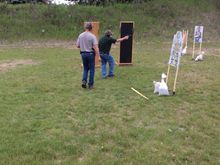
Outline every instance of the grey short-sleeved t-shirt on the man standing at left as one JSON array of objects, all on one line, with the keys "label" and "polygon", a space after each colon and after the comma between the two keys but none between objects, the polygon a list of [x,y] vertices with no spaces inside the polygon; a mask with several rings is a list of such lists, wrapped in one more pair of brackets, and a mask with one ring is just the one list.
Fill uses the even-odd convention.
[{"label": "grey short-sleeved t-shirt on the man standing at left", "polygon": [[85,31],[79,35],[76,45],[80,47],[81,51],[92,52],[93,46],[98,45],[98,41],[94,34]]}]

